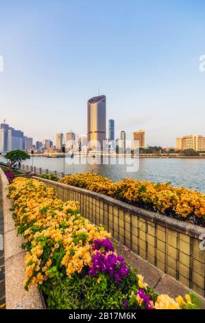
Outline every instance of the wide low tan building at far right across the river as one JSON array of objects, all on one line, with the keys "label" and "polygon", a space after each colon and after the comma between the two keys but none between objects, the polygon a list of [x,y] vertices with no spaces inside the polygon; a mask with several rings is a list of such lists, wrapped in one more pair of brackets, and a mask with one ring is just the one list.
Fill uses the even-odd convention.
[{"label": "wide low tan building at far right across the river", "polygon": [[205,151],[205,137],[202,135],[185,135],[176,138],[176,146],[179,150],[193,149],[194,151]]}]

